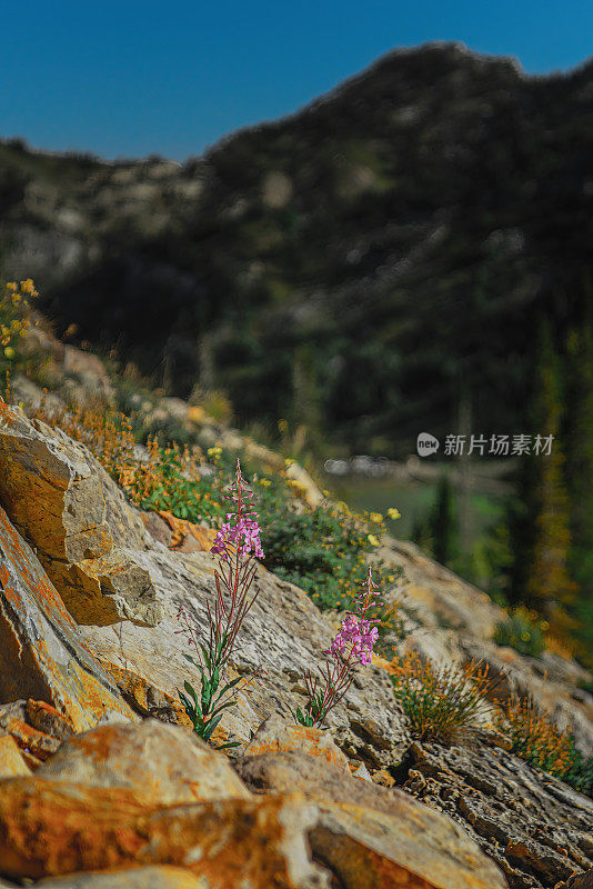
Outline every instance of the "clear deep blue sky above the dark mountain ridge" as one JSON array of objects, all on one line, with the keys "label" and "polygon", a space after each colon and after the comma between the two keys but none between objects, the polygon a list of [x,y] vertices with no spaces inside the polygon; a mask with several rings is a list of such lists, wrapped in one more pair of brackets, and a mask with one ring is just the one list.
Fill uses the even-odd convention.
[{"label": "clear deep blue sky above the dark mountain ridge", "polygon": [[519,58],[593,53],[592,0],[0,0],[0,136],[105,158],[183,160],[426,40]]}]

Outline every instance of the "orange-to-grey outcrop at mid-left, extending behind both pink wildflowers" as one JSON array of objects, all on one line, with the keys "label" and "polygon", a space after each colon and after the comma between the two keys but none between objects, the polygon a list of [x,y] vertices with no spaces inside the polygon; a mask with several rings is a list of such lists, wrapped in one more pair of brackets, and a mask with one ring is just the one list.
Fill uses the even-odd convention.
[{"label": "orange-to-grey outcrop at mid-left, extending behind both pink wildflowers", "polygon": [[[177,690],[185,679],[195,685],[200,681],[195,668],[183,657],[179,606],[184,606],[198,631],[203,632],[207,602],[214,589],[214,558],[204,551],[175,552],[155,541],[149,543],[140,513],[123,500],[88,449],[59,430],[29,423],[18,408],[2,406],[0,470],[0,500],[20,532],[36,546],[47,570],[53,571],[58,591],[74,618],[68,627],[113,677],[129,703],[134,706],[135,701],[130,688],[142,688],[145,707],[140,708],[141,715],[159,711],[157,715],[163,716],[167,710],[178,721],[180,708],[175,710],[172,705]],[[78,511],[82,490],[87,495]],[[36,499],[47,508],[33,509],[30,505]],[[83,539],[99,541],[97,555],[91,557],[86,551],[82,555],[89,558],[76,561]],[[111,549],[103,552],[102,547],[108,546]],[[134,599],[130,586],[121,595],[113,595],[104,578],[93,589],[89,587],[89,578],[97,578],[104,561],[119,549],[134,570],[150,577],[150,621],[143,620],[144,599]],[[64,581],[67,575],[73,578],[72,583]],[[130,572],[125,578],[130,580]],[[259,568],[254,589],[258,600],[244,625],[234,666],[245,680],[259,679],[250,682],[239,707],[228,711],[222,721],[225,735],[243,742],[265,716],[280,713],[293,721],[295,707],[303,702],[298,680],[315,663],[333,635],[332,626],[310,598],[291,583]],[[157,618],[157,628],[147,626]],[[388,675],[370,667],[361,669],[360,677],[331,722],[339,746],[349,756],[380,768],[401,758],[409,737]],[[14,688],[10,693],[53,703],[53,698],[34,690]],[[361,728],[361,720],[373,722],[373,736]]]}]

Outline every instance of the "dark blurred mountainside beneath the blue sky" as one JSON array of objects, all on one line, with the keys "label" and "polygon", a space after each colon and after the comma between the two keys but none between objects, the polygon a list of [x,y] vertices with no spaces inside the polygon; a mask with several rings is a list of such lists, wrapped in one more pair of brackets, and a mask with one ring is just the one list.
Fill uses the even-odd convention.
[{"label": "dark blurred mountainside beneath the blue sky", "polygon": [[523,431],[536,322],[562,349],[589,318],[592,211],[593,64],[527,78],[456,44],[183,166],[0,143],[2,262],[59,334],[392,456],[460,404]]}]

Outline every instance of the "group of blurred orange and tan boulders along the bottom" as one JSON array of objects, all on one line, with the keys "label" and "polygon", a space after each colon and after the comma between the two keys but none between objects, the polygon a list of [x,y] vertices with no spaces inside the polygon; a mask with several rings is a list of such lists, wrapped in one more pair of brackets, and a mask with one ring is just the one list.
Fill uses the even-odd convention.
[{"label": "group of blurred orange and tan boulders along the bottom", "polygon": [[[161,781],[147,787],[155,766]],[[473,840],[404,793],[303,753],[238,770],[257,793],[222,753],[153,720],[66,741],[53,767],[0,781],[0,875],[87,887],[80,871],[103,870],[117,886],[119,869],[151,867],[161,889],[158,869],[175,866],[205,889],[504,889]]]}]

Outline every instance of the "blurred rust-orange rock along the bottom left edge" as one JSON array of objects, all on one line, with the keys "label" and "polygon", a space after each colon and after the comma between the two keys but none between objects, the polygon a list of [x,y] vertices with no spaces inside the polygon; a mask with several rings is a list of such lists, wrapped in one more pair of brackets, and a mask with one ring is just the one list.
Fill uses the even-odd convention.
[{"label": "blurred rust-orange rock along the bottom left edge", "polygon": [[211,889],[296,889],[314,876],[321,889],[305,841],[315,816],[298,793],[159,809],[132,790],[13,778],[0,785],[1,872],[178,865]]}]

